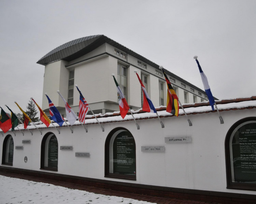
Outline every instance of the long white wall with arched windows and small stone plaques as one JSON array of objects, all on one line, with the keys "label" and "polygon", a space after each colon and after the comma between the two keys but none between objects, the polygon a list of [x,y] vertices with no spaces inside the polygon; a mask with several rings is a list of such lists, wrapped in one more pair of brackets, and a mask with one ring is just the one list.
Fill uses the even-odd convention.
[{"label": "long white wall with arched windows and small stone plaques", "polygon": [[[256,104],[256,102],[254,102]],[[209,107],[210,108],[210,107]],[[159,111],[159,114],[162,111]],[[134,114],[135,117],[137,114]],[[167,186],[218,192],[254,194],[256,191],[227,189],[225,165],[225,137],[230,127],[242,118],[256,115],[256,109],[222,111],[224,124],[220,124],[218,113],[189,115],[192,126],[185,116],[161,118],[165,127],[161,128],[158,118],[137,120],[140,130],[134,121],[88,124],[86,133],[81,125],[61,127],[60,134],[55,128],[23,130],[24,136],[15,131],[7,132],[0,137],[0,146],[8,134],[14,140],[14,168],[40,169],[41,142],[45,134],[52,132],[58,140],[58,171],[54,173],[97,178],[111,181],[137,184]],[[121,117],[121,116],[118,116]],[[128,116],[126,116],[128,117]],[[100,118],[104,119],[104,118]],[[105,119],[108,120],[108,119]],[[133,135],[136,143],[136,181],[104,177],[104,148],[106,138],[116,127],[125,127]],[[165,137],[191,136],[190,143],[165,143]],[[22,144],[30,140],[31,144]],[[23,146],[23,150],[15,149]],[[60,146],[72,146],[73,150],[60,150]],[[164,146],[164,152],[144,152],[142,146]],[[2,149],[2,148],[1,148]],[[76,152],[90,153],[90,158],[75,157]],[[28,161],[24,162],[24,157]],[[0,151],[2,158],[2,150]],[[2,165],[5,166],[5,165]]]}]

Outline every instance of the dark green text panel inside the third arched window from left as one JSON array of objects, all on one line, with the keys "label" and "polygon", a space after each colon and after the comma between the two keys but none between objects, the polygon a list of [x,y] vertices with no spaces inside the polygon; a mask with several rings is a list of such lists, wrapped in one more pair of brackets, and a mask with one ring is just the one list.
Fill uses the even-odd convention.
[{"label": "dark green text panel inside the third arched window from left", "polygon": [[113,173],[135,175],[135,141],[128,131],[120,132],[113,143]]}]

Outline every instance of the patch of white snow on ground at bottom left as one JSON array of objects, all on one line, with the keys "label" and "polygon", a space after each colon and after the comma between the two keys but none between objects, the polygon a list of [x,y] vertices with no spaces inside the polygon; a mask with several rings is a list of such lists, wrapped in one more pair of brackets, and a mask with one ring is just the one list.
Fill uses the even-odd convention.
[{"label": "patch of white snow on ground at bottom left", "polygon": [[[0,175],[0,204],[149,204]],[[152,203],[150,203],[152,204]]]}]

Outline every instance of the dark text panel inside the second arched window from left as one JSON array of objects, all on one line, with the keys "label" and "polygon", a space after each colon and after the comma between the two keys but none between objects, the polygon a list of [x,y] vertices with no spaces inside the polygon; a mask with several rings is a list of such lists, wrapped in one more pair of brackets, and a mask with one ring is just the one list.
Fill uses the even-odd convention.
[{"label": "dark text panel inside the second arched window from left", "polygon": [[58,167],[58,141],[56,136],[52,136],[48,145],[48,167]]}]

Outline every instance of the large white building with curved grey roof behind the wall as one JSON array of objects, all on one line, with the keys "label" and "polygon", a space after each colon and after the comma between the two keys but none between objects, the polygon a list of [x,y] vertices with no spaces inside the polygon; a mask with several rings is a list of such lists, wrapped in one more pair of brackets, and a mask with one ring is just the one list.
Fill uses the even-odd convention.
[{"label": "large white building with curved grey roof behind the wall", "polygon": [[[104,35],[67,42],[47,53],[37,63],[45,65],[43,94],[47,93],[64,116],[64,103],[56,91],[60,91],[77,113],[79,93],[75,84],[94,113],[119,111],[116,87],[111,76],[113,73],[130,108],[140,109],[142,93],[134,70],[138,70],[154,106],[166,106],[166,82],[159,65]],[[167,70],[166,74],[182,104],[208,100],[204,90]],[[42,108],[49,113],[45,96]]]}]

